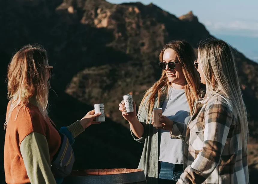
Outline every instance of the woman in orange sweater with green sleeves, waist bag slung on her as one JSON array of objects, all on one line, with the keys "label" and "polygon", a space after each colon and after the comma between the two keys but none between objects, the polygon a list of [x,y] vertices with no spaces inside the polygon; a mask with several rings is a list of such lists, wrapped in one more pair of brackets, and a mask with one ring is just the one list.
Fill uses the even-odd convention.
[{"label": "woman in orange sweater with green sleeves, waist bag slung on her", "polygon": [[[71,169],[74,162],[70,146],[74,138],[91,124],[99,123],[94,119],[100,113],[95,114],[92,110],[70,126],[56,129],[47,112],[48,79],[52,68],[48,64],[46,51],[32,45],[18,51],[8,66],[10,102],[4,124],[7,184],[61,183],[68,167]],[[60,174],[59,171],[64,173]]]}]

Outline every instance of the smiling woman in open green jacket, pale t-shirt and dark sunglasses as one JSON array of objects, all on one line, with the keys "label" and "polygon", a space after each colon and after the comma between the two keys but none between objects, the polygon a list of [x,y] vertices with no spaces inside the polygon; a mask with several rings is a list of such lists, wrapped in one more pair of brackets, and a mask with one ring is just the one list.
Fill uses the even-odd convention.
[{"label": "smiling woman in open green jacket, pale t-shirt and dark sunglasses", "polygon": [[163,70],[161,78],[146,91],[136,114],[125,112],[124,102],[119,110],[128,120],[134,139],[144,143],[138,168],[143,169],[147,183],[176,183],[183,172],[184,141],[170,139],[169,127],[156,129],[151,124],[153,108],[160,107],[173,121],[187,124],[196,100],[201,96],[200,79],[194,67],[196,56],[186,41],[172,41],[159,56]]}]

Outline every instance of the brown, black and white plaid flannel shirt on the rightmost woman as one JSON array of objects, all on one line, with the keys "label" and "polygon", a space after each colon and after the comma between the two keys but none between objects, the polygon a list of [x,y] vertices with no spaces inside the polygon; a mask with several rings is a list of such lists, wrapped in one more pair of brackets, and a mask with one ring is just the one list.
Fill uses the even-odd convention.
[{"label": "brown, black and white plaid flannel shirt on the rightmost woman", "polygon": [[170,135],[186,142],[177,184],[249,184],[237,114],[222,95],[197,101],[188,125],[175,122]]}]

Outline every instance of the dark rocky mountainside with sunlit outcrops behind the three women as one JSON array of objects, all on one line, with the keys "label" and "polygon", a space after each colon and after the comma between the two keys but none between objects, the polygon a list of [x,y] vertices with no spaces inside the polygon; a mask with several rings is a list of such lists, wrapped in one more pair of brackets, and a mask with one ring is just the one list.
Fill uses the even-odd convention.
[{"label": "dark rocky mountainside with sunlit outcrops behind the three women", "polygon": [[[123,95],[132,94],[140,104],[160,77],[158,55],[165,43],[184,39],[197,48],[200,40],[212,37],[192,12],[177,18],[155,4],[12,0],[0,1],[0,7],[2,115],[7,63],[14,49],[29,43],[43,45],[54,66],[51,84],[58,97],[50,92],[50,117],[59,127],[104,103],[107,122],[87,128],[76,140],[75,168],[137,167],[142,145],[132,140],[118,110]],[[256,141],[258,65],[237,51],[236,62]]]}]

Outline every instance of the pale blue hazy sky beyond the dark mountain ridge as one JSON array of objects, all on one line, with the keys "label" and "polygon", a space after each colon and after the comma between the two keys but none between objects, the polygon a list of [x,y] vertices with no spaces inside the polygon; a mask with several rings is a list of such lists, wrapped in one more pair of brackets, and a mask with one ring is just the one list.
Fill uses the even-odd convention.
[{"label": "pale blue hazy sky beyond the dark mountain ridge", "polygon": [[[107,0],[120,4],[137,0]],[[258,61],[258,0],[139,0],[177,17],[193,11],[208,31]],[[251,41],[251,43],[250,43]],[[249,44],[250,43],[250,44]]]}]

